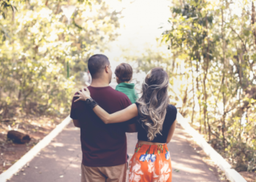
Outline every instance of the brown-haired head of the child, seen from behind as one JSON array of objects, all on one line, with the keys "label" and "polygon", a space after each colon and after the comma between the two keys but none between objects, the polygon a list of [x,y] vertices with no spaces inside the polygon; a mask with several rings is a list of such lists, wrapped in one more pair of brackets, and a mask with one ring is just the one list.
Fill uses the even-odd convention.
[{"label": "brown-haired head of the child, seen from behind", "polygon": [[116,67],[115,74],[121,82],[129,82],[132,79],[132,66],[121,63]]}]

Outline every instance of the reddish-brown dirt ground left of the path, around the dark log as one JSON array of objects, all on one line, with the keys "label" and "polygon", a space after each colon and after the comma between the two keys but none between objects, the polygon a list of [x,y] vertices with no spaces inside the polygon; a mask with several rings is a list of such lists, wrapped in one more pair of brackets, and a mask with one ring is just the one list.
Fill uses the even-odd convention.
[{"label": "reddish-brown dirt ground left of the path, around the dark log", "polygon": [[[57,116],[34,116],[26,115],[18,117],[15,122],[10,125],[8,122],[0,121],[0,174],[11,167],[15,162],[23,157],[33,146],[35,146],[42,138],[53,130],[67,115]],[[31,141],[26,144],[13,143],[7,140],[7,132],[9,126],[12,130],[18,130],[28,134]],[[1,180],[0,180],[1,181]]]}]

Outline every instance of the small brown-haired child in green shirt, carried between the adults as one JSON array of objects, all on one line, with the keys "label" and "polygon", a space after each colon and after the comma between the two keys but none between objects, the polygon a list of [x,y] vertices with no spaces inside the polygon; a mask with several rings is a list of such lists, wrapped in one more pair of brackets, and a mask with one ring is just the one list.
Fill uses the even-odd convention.
[{"label": "small brown-haired child in green shirt, carried between the adults", "polygon": [[135,103],[138,99],[138,93],[135,90],[135,84],[130,84],[129,81],[132,79],[132,66],[127,63],[121,63],[116,67],[116,90],[123,92],[128,96],[131,103]]}]

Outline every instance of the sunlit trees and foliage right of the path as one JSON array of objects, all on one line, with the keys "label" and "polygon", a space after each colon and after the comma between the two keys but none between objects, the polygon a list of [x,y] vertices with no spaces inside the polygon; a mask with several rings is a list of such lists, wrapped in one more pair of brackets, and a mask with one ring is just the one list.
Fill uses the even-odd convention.
[{"label": "sunlit trees and foliage right of the path", "polygon": [[256,170],[254,2],[173,0],[171,11],[162,41],[173,53],[173,79],[184,81],[181,113],[236,170]]}]

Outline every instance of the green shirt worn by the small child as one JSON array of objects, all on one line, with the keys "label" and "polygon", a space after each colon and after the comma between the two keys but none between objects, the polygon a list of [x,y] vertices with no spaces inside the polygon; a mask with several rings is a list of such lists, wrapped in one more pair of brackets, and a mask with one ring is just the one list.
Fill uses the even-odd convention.
[{"label": "green shirt worn by the small child", "polygon": [[123,82],[116,86],[116,90],[127,95],[129,100],[131,100],[131,103],[135,103],[138,99],[138,93],[135,90],[135,84],[127,84]]}]

